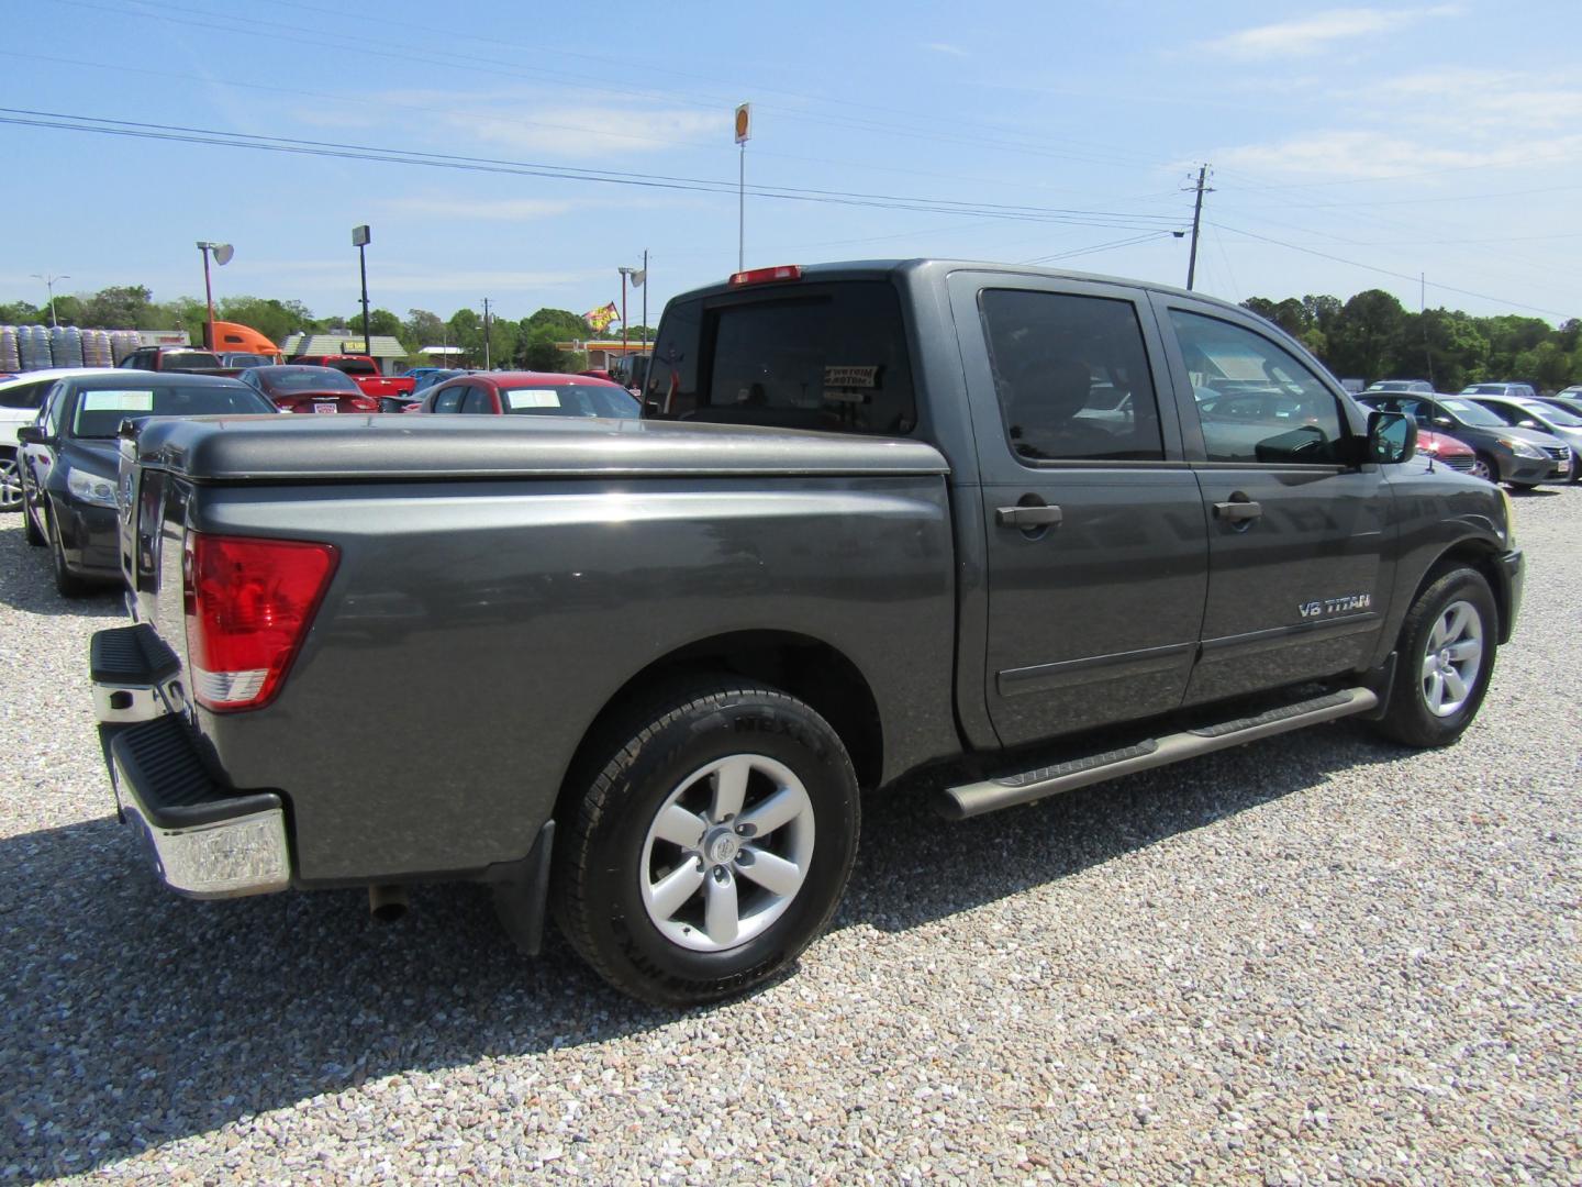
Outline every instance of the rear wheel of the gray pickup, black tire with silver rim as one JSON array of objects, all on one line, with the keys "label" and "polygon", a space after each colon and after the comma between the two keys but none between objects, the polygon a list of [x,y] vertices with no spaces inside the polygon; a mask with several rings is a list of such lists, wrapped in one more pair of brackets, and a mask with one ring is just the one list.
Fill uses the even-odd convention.
[{"label": "rear wheel of the gray pickup, black tire with silver rim", "polygon": [[[679,685],[606,730],[587,760],[589,790],[558,821],[552,905],[560,931],[612,986],[669,1007],[740,994],[789,967],[829,923],[851,877],[861,807],[840,736],[807,704],[742,681]],[[699,776],[728,764],[750,768],[740,777],[745,794],[739,813],[713,820],[698,806],[720,804],[721,780]],[[761,766],[793,779],[777,783]],[[736,837],[732,815],[734,832],[753,828],[745,821],[777,788],[797,793],[799,815],[770,825],[759,847]],[[704,829],[693,850],[655,837],[661,809],[683,807],[698,807],[691,818]],[[756,863],[761,877],[764,858],[788,853],[786,845],[796,847],[791,869],[800,875],[794,889],[775,894],[748,870]],[[650,908],[669,875],[696,877],[696,888],[669,912]],[[713,948],[710,878],[729,891],[747,931]],[[734,937],[736,924],[725,934]]]}]

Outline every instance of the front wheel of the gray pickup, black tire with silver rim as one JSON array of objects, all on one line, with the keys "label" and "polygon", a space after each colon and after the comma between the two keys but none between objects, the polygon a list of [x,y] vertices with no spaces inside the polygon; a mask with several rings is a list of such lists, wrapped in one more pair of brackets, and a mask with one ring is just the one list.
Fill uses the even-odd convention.
[{"label": "front wheel of the gray pickup, black tire with silver rim", "polygon": [[[1438,693],[1451,700],[1441,700],[1440,709],[1435,711],[1432,701],[1436,688],[1430,673],[1435,652],[1430,650],[1430,644],[1435,630],[1443,630],[1446,622],[1455,619],[1452,608],[1467,608],[1474,616],[1476,620],[1470,625],[1479,644],[1479,662],[1470,681],[1462,679],[1467,676],[1465,668],[1457,676],[1465,688],[1460,696],[1454,695],[1454,685],[1446,684],[1441,674]],[[1449,745],[1460,738],[1478,715],[1478,707],[1489,690],[1498,635],[1498,609],[1481,573],[1457,567],[1433,575],[1429,587],[1406,611],[1406,620],[1400,627],[1395,681],[1391,685],[1389,709],[1378,723],[1380,733],[1414,747]],[[1449,650],[1452,649],[1440,649],[1438,657],[1443,660]],[[1449,663],[1457,660],[1452,658]]]}]

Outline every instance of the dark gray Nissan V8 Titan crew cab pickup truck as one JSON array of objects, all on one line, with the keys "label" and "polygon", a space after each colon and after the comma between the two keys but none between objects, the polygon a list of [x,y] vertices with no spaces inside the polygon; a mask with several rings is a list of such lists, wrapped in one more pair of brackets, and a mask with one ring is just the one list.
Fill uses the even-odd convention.
[{"label": "dark gray Nissan V8 Titan crew cab pickup truck", "polygon": [[745,272],[669,302],[644,404],[122,442],[92,676],[171,888],[489,883],[524,950],[552,915],[710,1000],[826,926],[859,788],[959,818],[1346,715],[1444,745],[1520,601],[1498,487],[1171,288]]}]

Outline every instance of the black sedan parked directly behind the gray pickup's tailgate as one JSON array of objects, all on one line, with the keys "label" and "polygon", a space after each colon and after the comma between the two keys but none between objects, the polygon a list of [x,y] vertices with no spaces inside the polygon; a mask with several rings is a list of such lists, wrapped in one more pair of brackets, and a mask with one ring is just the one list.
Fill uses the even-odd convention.
[{"label": "black sedan parked directly behind the gray pickup's tailgate", "polygon": [[120,581],[115,434],[122,421],[215,413],[275,413],[275,407],[236,380],[179,372],[84,375],[49,389],[38,421],[17,440],[27,543],[49,546],[55,589],[78,597],[89,582]]}]

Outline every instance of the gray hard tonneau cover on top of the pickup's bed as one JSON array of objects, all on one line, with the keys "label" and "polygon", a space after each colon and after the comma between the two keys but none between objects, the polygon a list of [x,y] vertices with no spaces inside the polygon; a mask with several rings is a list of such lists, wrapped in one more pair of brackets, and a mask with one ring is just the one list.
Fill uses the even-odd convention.
[{"label": "gray hard tonneau cover on top of the pickup's bed", "polygon": [[153,418],[138,461],[196,483],[949,470],[932,445],[853,434],[422,413]]}]

